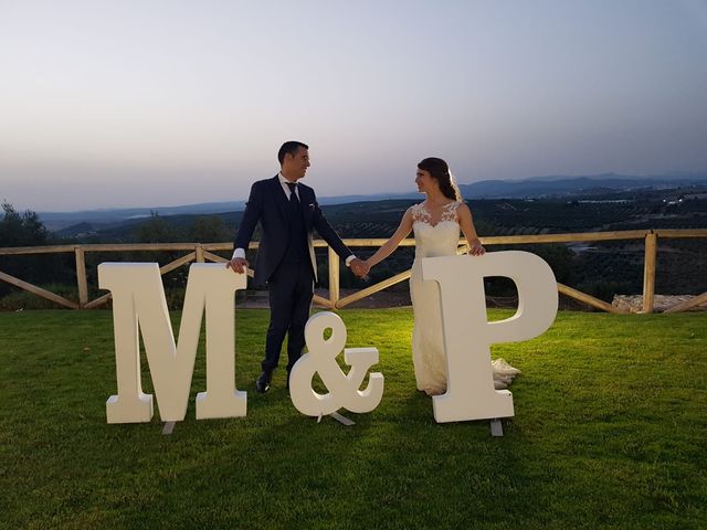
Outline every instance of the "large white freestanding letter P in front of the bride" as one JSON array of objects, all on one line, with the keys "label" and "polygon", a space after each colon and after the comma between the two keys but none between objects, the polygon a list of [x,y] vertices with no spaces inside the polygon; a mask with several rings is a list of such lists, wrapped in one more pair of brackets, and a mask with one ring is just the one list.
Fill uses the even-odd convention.
[{"label": "large white freestanding letter P in front of the bride", "polygon": [[[430,257],[422,276],[440,285],[447,389],[433,399],[440,422],[486,420],[514,415],[513,395],[495,390],[490,344],[531,339],[545,332],[557,314],[552,269],[528,252],[507,251],[479,257]],[[518,289],[518,311],[489,322],[484,277],[505,276]]]}]

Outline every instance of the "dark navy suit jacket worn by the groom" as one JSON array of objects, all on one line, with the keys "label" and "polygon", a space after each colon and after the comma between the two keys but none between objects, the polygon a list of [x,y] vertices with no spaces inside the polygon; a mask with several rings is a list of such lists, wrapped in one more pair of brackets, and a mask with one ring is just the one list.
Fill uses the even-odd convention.
[{"label": "dark navy suit jacket worn by the groom", "polygon": [[[344,244],[334,231],[324,213],[317,204],[314,190],[302,182],[297,183],[299,203],[307,232],[309,258],[317,279],[317,263],[314,254],[313,229],[326,241],[331,248],[346,259],[351,251]],[[258,180],[251,188],[251,195],[245,204],[241,226],[235,236],[234,247],[247,250],[257,223],[261,223],[262,236],[255,258],[255,284],[264,285],[275,272],[283,257],[289,241],[289,224],[287,223],[287,197],[275,176],[272,179]]]}]

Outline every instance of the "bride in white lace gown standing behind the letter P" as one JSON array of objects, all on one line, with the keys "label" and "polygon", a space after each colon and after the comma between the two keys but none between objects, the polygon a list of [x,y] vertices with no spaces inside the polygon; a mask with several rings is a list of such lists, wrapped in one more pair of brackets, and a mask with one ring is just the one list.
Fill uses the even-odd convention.
[{"label": "bride in white lace gown standing behind the letter P", "polygon": [[[415,183],[426,199],[405,211],[395,233],[366,261],[370,268],[388,257],[411,231],[415,236],[415,259],[410,276],[410,296],[414,312],[412,361],[418,390],[428,395],[446,392],[446,360],[442,336],[440,290],[435,282],[422,280],[422,258],[454,256],[460,229],[468,242],[471,256],[486,251],[476,235],[472,212],[462,201],[447,163],[425,158],[418,165]],[[519,371],[503,359],[493,362],[496,389],[504,389]]]}]

